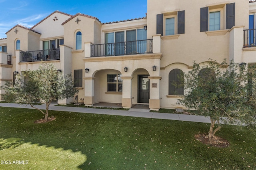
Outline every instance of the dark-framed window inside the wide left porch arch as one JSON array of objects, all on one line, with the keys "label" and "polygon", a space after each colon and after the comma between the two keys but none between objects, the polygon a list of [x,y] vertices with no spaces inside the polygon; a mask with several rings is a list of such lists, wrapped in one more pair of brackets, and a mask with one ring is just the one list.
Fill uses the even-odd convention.
[{"label": "dark-framed window inside the wide left porch arch", "polygon": [[122,74],[108,74],[107,77],[107,90],[108,92],[122,92],[123,91],[123,80]]}]

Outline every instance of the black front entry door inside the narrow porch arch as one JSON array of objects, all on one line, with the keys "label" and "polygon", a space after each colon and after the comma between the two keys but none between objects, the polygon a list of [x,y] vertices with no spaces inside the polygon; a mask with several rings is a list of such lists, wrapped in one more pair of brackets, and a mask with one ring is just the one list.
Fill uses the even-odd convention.
[{"label": "black front entry door inside the narrow porch arch", "polygon": [[149,103],[149,75],[138,75],[138,103]]}]

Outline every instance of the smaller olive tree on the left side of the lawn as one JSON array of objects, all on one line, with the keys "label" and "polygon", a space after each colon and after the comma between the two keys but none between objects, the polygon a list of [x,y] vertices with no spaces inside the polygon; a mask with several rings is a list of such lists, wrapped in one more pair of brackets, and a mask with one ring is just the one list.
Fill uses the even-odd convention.
[{"label": "smaller olive tree on the left side of the lawn", "polygon": [[[74,88],[72,75],[58,72],[53,64],[41,63],[37,70],[28,70],[17,74],[15,82],[7,82],[3,88],[6,92],[4,100],[18,104],[30,104],[41,111],[48,120],[48,109],[52,101],[71,98],[78,90]],[[35,107],[35,103],[43,100],[46,111]]]}]

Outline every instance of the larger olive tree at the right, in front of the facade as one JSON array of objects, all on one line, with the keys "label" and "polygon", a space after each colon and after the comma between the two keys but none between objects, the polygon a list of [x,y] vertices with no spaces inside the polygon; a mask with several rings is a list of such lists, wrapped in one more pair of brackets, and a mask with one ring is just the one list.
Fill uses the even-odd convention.
[{"label": "larger olive tree at the right, in front of the facade", "polygon": [[248,74],[238,65],[209,59],[203,64],[194,62],[193,69],[184,74],[185,93],[178,104],[210,117],[210,143],[223,123],[255,125],[254,109],[248,104]]}]

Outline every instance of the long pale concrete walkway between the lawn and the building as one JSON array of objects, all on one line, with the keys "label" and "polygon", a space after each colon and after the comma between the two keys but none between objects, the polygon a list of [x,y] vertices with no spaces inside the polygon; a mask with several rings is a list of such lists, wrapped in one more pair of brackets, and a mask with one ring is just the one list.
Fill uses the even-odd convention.
[{"label": "long pale concrete walkway between the lawn and the building", "polygon": [[[26,104],[19,105],[19,104],[12,104],[12,103],[0,103],[0,107],[16,107],[16,108],[33,109],[30,105],[26,105]],[[39,109],[46,109],[45,104],[36,105],[35,107],[37,107]],[[171,114],[171,113],[156,113],[156,112],[149,112],[149,111],[139,111],[139,109],[136,109],[136,110],[130,109],[128,111],[125,111],[125,110],[112,110],[112,109],[94,109],[94,108],[83,108],[83,107],[54,106],[54,104],[51,104],[49,106],[49,110],[210,123],[210,118],[204,117],[204,116]]]}]

